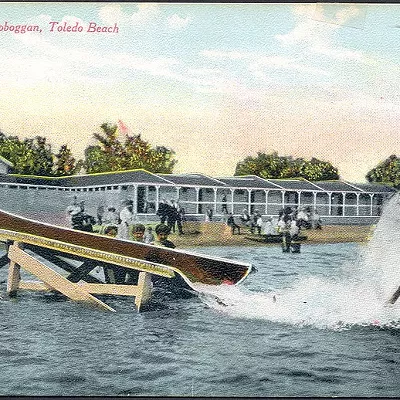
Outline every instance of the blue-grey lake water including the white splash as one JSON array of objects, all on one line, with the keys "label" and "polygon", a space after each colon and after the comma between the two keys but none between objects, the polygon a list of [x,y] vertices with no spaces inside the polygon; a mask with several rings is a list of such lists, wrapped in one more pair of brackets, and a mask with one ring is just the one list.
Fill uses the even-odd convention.
[{"label": "blue-grey lake water including the white splash", "polygon": [[127,298],[106,300],[116,313],[9,299],[2,283],[0,395],[399,396],[400,300],[384,304],[400,283],[396,207],[368,246],[196,249],[258,272],[140,314]]}]

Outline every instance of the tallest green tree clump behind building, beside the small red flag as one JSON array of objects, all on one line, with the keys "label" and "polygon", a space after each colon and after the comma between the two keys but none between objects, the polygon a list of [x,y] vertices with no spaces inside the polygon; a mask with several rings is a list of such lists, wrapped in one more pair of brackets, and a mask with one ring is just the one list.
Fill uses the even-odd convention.
[{"label": "tallest green tree clump behind building, beside the small red flag", "polygon": [[153,147],[140,135],[117,138],[117,125],[104,123],[102,133],[95,133],[99,144],[85,150],[84,166],[88,174],[108,171],[126,171],[143,168],[155,173],[172,173],[175,153],[164,147]]}]

